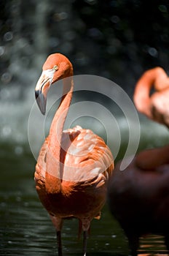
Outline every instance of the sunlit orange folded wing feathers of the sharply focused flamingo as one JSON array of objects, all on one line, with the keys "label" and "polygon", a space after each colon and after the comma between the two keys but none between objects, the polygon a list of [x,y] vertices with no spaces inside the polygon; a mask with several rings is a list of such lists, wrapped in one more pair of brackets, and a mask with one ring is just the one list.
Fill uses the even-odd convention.
[{"label": "sunlit orange folded wing feathers of the sharply focused flamingo", "polygon": [[71,181],[82,182],[102,177],[104,182],[111,176],[111,151],[104,140],[90,129],[76,126],[63,131],[62,150],[65,152],[63,180],[71,177]]}]

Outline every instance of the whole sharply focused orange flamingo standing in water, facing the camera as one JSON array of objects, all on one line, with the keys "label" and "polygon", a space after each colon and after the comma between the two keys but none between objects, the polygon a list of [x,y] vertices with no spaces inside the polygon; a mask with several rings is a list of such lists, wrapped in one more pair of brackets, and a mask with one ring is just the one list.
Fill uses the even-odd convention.
[{"label": "whole sharply focused orange flamingo standing in water, facing the camera", "polygon": [[42,114],[46,110],[47,91],[60,79],[63,79],[63,97],[39,152],[36,191],[55,226],[58,255],[63,255],[63,220],[73,217],[79,219],[79,228],[83,230],[83,253],[86,255],[90,222],[101,217],[114,159],[103,139],[90,129],[76,126],[63,131],[74,81],[72,64],[60,53],[47,57],[36,84],[36,102]]}]

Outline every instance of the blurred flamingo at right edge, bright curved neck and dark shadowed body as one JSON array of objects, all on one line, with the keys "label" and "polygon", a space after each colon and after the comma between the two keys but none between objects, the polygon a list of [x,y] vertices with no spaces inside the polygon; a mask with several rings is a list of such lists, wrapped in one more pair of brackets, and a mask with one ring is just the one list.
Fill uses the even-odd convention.
[{"label": "blurred flamingo at right edge, bright curved neck and dark shadowed body", "polygon": [[[152,83],[158,91],[149,97]],[[168,77],[157,67],[138,80],[134,94],[138,110],[167,127],[168,91]],[[123,171],[120,164],[110,178],[108,200],[111,214],[128,238],[131,255],[137,255],[139,238],[149,233],[164,236],[169,250],[169,145],[141,151]]]}]

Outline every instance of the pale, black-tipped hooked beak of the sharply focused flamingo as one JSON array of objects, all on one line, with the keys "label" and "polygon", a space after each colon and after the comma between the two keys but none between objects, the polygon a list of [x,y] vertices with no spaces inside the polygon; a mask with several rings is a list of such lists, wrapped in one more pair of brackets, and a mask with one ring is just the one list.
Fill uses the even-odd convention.
[{"label": "pale, black-tipped hooked beak of the sharply focused flamingo", "polygon": [[39,110],[41,110],[43,115],[46,113],[47,92],[52,84],[54,72],[55,70],[53,69],[44,70],[36,83],[35,98],[37,105],[39,106]]}]

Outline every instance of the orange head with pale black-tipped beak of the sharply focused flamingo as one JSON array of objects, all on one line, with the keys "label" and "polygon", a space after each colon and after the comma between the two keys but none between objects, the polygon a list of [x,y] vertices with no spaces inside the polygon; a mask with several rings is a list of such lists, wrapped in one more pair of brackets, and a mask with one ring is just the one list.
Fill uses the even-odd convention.
[{"label": "orange head with pale black-tipped beak of the sharply focused flamingo", "polygon": [[52,83],[73,75],[71,62],[60,53],[53,53],[47,57],[42,68],[42,75],[36,83],[35,97],[42,114],[46,113],[47,92]]}]

